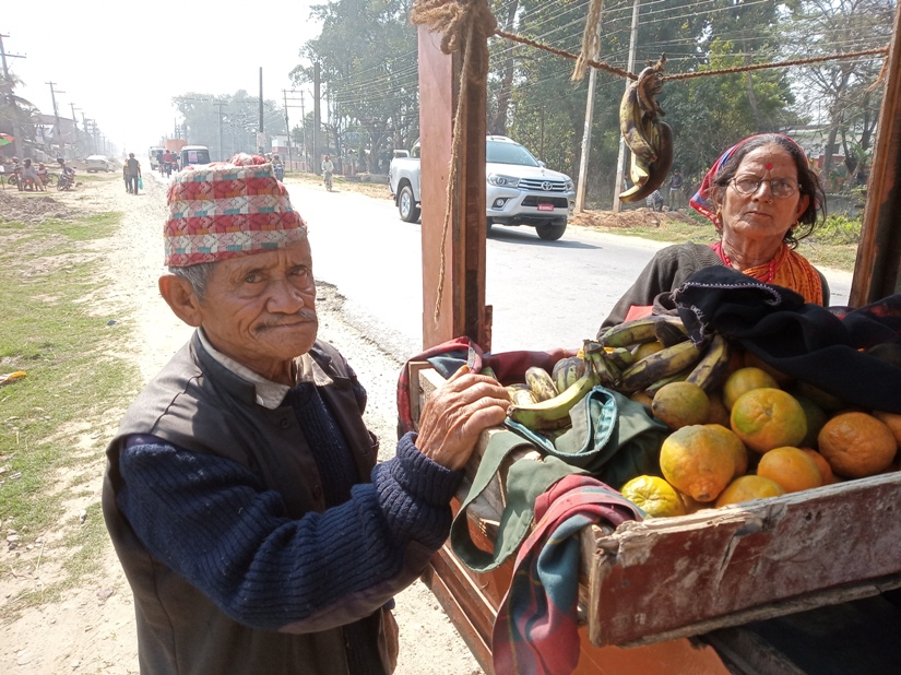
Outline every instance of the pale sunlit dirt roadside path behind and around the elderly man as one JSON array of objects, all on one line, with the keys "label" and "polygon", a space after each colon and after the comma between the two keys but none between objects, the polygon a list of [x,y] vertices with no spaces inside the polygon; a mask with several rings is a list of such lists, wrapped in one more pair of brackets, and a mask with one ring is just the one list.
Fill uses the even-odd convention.
[{"label": "pale sunlit dirt roadside path behind and around the elderly man", "polygon": [[[144,192],[128,194],[119,175],[91,181],[73,192],[47,194],[60,204],[93,212],[125,214],[116,237],[100,242],[105,264],[98,285],[104,289],[91,301],[95,311],[116,321],[128,335],[119,356],[138,366],[145,382],[185,343],[190,329],[180,323],[159,297],[156,280],[162,267],[161,234],[165,218],[165,186],[151,177]],[[394,388],[401,364],[368,338],[347,327],[341,317],[342,298],[328,284],[320,285],[320,335],[337,346],[353,364],[369,392],[367,424],[380,437],[382,458],[393,453],[396,438]],[[103,443],[115,434],[118,421],[138,393],[123,392],[121,406],[110,410],[93,438]],[[99,454],[99,453],[97,453]],[[103,460],[97,457],[85,486],[86,495],[69,509],[78,514],[98,504]],[[71,517],[71,513],[68,516]],[[5,548],[5,547],[4,547]],[[364,552],[360,552],[364,553]],[[5,550],[3,556],[11,555]],[[131,592],[112,546],[103,553],[103,575],[58,601],[26,611],[14,623],[0,619],[0,673],[4,675],[125,675],[138,673],[137,640]],[[0,578],[0,601],[31,584],[48,584],[58,567],[38,559],[32,575]],[[399,675],[477,675],[482,673],[438,602],[416,582],[396,599],[401,630]]]}]

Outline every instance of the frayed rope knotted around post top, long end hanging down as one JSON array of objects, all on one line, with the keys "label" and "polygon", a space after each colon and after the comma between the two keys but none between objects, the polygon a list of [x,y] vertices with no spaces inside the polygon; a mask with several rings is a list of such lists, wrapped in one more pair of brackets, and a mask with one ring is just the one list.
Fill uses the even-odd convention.
[{"label": "frayed rope knotted around post top, long end hanging down", "polygon": [[[450,229],[451,198],[460,177],[460,154],[463,143],[461,130],[466,118],[466,102],[471,95],[485,91],[488,82],[488,38],[497,31],[497,21],[487,0],[416,0],[410,12],[415,25],[424,25],[434,33],[441,33],[441,51],[462,54],[460,91],[453,115],[453,137],[448,170],[448,208],[441,227],[441,269],[438,272],[438,295],[435,300],[434,321],[438,324],[441,299],[444,292],[447,247]],[[484,143],[484,139],[482,140]]]}]

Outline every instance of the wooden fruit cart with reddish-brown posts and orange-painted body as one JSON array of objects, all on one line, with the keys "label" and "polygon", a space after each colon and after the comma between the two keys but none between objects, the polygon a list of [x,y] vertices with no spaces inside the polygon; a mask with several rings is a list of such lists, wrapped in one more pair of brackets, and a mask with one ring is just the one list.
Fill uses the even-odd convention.
[{"label": "wooden fruit cart with reddish-brown posts and orange-painted body", "polygon": [[[901,67],[896,14],[886,95],[851,292],[862,306],[901,293]],[[485,306],[485,96],[466,99],[464,150],[448,190],[460,57],[419,29],[423,147],[423,342],[469,335],[490,350]],[[450,213],[444,234],[444,212]],[[411,365],[417,405],[440,382]],[[490,431],[486,433],[490,434]],[[487,439],[467,467],[477,466]],[[478,543],[502,510],[502,485],[470,509]],[[459,502],[458,502],[459,506]],[[901,673],[901,473],[752,505],[585,533],[584,626],[577,673]],[[467,569],[446,546],[425,580],[486,672],[511,565]],[[508,674],[498,674],[508,675]]]}]

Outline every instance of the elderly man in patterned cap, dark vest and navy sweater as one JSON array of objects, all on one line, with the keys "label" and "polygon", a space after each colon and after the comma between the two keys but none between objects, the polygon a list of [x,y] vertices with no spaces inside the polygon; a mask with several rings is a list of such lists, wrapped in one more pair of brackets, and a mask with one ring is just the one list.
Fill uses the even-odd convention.
[{"label": "elderly man in patterned cap, dark vest and navy sweater", "polygon": [[307,232],[271,164],[177,175],[159,292],[197,328],[110,442],[104,516],[143,674],[384,674],[392,596],[448,535],[509,400],[458,372],[376,465],[366,392],[317,340]]}]

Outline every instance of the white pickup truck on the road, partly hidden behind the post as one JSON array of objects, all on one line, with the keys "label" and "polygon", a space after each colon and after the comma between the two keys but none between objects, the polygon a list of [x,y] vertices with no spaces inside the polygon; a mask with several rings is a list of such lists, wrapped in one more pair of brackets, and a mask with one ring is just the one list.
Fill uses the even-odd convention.
[{"label": "white pickup truck on the road, partly hidden behind the post", "polygon": [[[486,147],[485,196],[488,229],[491,225],[530,225],[542,239],[564,236],[572,215],[576,188],[566,174],[545,168],[523,145],[502,135],[489,135]],[[419,144],[394,151],[388,187],[401,218],[419,218]]]}]

